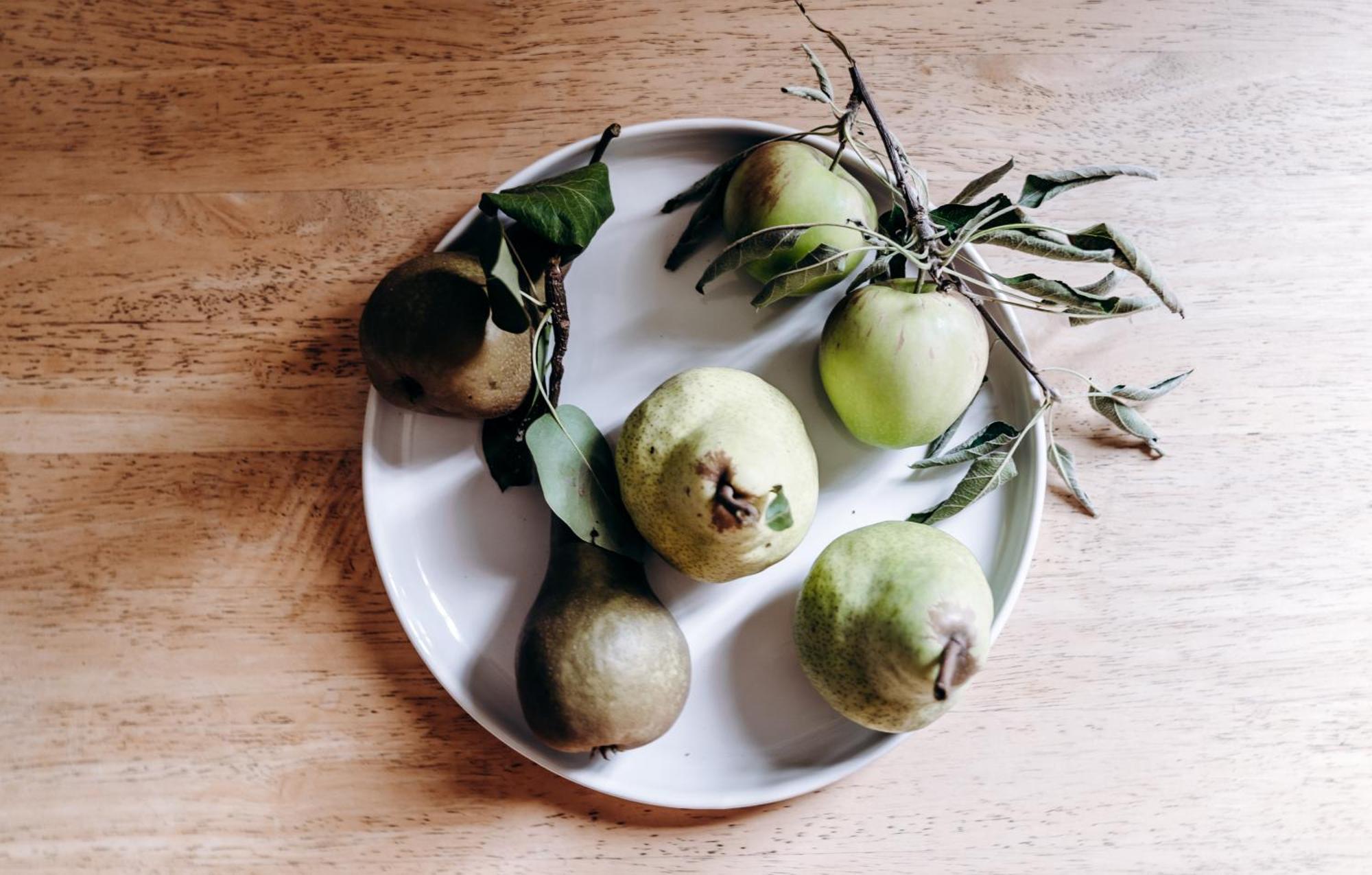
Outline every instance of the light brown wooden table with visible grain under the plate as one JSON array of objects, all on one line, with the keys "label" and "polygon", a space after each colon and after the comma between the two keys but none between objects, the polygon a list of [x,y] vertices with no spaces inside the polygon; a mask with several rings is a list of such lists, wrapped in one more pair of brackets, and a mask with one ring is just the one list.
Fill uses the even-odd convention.
[{"label": "light brown wooden table with visible grain under the plate", "polygon": [[[564,782],[443,693],[362,518],[357,318],[477,192],[623,123],[814,119],[814,40],[720,0],[0,7],[0,868],[1372,870],[1372,7],[818,10],[936,195],[1155,165],[1063,197],[1188,318],[1030,326],[1111,380],[1195,366],[1148,461],[1062,418],[963,705],[789,802]],[[838,62],[834,60],[836,69]]]}]

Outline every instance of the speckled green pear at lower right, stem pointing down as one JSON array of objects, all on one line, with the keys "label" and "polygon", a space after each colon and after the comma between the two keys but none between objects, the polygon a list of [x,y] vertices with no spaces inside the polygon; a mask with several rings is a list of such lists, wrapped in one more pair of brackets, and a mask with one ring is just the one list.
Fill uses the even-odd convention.
[{"label": "speckled green pear at lower right, stem pointing down", "polygon": [[815,560],[796,605],[809,683],[841,715],[908,732],[947,712],[991,646],[991,587],[956,538],[878,523]]}]

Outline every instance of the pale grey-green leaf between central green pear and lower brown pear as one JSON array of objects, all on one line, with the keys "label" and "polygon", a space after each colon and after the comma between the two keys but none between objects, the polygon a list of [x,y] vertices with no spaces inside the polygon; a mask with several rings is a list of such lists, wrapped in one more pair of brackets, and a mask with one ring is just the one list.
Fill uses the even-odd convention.
[{"label": "pale grey-green leaf between central green pear and lower brown pear", "polygon": [[639,558],[642,539],[620,501],[615,458],[591,418],[560,405],[528,427],[525,442],[553,513],[582,540]]}]

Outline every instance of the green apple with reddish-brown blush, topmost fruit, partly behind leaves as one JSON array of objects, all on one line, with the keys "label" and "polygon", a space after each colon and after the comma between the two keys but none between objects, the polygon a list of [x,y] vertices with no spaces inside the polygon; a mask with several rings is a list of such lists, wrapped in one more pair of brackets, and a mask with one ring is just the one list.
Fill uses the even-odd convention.
[{"label": "green apple with reddish-brown blush, topmost fruit, partly behind leaves", "polygon": [[[744,159],[724,189],[724,233],[738,240],[764,228],[805,222],[862,222],[877,226],[877,207],[862,182],[833,159],[804,143],[767,143]],[[746,270],[760,283],[796,266],[811,250],[827,243],[838,250],[863,245],[863,236],[848,228],[811,228],[794,245],[752,262]],[[840,262],[841,270],[858,266],[863,252],[853,252]],[[831,285],[820,277],[804,285],[797,295],[812,295]]]}]

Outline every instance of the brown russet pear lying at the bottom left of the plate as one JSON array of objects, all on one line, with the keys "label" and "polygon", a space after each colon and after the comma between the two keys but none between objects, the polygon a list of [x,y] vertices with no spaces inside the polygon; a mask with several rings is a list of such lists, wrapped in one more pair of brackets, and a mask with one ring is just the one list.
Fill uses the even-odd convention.
[{"label": "brown russet pear lying at the bottom left of the plate", "polygon": [[676,721],[690,688],[686,636],[643,566],[553,517],[543,586],[514,662],[519,701],[549,747],[641,747]]}]

